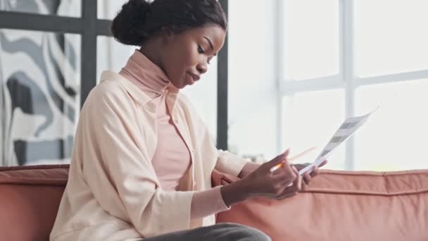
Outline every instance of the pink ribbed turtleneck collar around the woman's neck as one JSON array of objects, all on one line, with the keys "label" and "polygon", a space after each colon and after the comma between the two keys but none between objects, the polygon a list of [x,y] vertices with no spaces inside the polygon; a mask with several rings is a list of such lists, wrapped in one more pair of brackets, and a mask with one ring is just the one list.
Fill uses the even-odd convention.
[{"label": "pink ribbed turtleneck collar around the woman's neck", "polygon": [[172,86],[168,80],[165,72],[138,49],[135,49],[134,54],[120,70],[120,75],[134,82],[140,89],[154,93],[155,96],[165,93],[166,89],[178,92],[178,89]]}]

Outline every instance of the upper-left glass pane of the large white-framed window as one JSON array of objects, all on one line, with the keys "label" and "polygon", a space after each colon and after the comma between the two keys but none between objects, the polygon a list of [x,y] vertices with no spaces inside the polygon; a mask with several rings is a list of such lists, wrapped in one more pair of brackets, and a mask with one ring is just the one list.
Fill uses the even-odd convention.
[{"label": "upper-left glass pane of the large white-framed window", "polygon": [[287,80],[339,74],[338,5],[337,0],[284,2]]}]

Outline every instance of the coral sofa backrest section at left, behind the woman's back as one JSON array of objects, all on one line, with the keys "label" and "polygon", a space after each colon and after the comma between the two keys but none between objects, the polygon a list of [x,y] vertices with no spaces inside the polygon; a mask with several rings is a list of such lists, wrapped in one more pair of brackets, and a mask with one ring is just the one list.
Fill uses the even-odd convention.
[{"label": "coral sofa backrest section at left, behind the woman's back", "polygon": [[0,168],[0,240],[49,241],[68,165]]}]

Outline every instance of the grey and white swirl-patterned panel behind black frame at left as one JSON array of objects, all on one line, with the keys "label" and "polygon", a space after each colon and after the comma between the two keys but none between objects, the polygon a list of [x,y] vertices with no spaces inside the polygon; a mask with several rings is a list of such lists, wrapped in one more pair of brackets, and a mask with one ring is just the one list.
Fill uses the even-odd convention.
[{"label": "grey and white swirl-patterned panel behind black frame at left", "polygon": [[[59,1],[8,2],[32,12],[63,8]],[[1,166],[70,160],[80,61],[80,35],[0,30]]]}]

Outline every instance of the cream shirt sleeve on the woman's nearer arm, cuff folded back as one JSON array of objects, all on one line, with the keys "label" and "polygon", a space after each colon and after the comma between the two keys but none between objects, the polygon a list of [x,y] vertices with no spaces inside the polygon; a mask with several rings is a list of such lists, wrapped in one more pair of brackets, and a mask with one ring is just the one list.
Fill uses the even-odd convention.
[{"label": "cream shirt sleeve on the woman's nearer arm, cuff folded back", "polygon": [[[160,188],[151,161],[144,154],[141,136],[147,133],[139,128],[150,123],[138,123],[136,106],[126,92],[112,92],[96,92],[85,103],[85,125],[90,132],[87,138],[91,140],[84,152],[96,156],[86,161],[99,165],[93,175],[106,175],[130,222],[144,237],[188,229],[194,192],[166,192]],[[111,213],[108,194],[103,191],[103,185],[109,184],[99,180],[87,178],[89,187],[99,194],[97,202]]]}]

